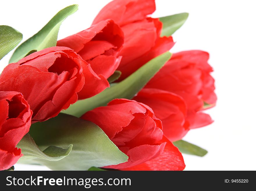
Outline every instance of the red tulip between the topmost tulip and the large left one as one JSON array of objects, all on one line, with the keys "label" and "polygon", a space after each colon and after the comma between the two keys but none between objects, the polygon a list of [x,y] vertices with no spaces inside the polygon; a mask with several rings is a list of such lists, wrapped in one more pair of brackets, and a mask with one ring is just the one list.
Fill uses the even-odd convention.
[{"label": "red tulip between the topmost tulip and the large left one", "polygon": [[[113,20],[101,21],[90,28],[59,40],[57,46],[69,47],[76,51],[83,60],[90,63],[93,71],[105,79],[105,88],[109,87],[109,78],[117,69],[121,56],[117,57],[124,42],[121,28]],[[79,99],[85,99],[87,90],[79,93]]]}]

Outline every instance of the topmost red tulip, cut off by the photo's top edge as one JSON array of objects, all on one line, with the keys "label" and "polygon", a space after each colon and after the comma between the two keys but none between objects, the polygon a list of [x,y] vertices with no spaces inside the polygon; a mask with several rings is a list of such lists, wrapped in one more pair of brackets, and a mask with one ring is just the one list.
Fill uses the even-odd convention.
[{"label": "topmost red tulip, cut off by the photo's top edge", "polygon": [[113,19],[124,32],[125,42],[119,55],[118,70],[122,80],[149,60],[173,47],[172,37],[160,37],[163,24],[159,19],[147,17],[155,11],[154,0],[114,0],[107,4],[93,21]]}]

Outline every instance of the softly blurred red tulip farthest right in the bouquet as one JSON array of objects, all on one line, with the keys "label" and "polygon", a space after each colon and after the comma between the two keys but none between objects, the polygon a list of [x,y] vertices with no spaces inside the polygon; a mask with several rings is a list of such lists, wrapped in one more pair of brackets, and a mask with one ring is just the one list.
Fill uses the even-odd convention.
[{"label": "softly blurred red tulip farthest right in the bouquet", "polygon": [[[204,51],[184,51],[173,54],[172,58],[145,86],[144,89],[153,89],[152,92],[142,90],[134,98],[154,109],[156,116],[163,121],[163,131],[172,141],[181,139],[189,129],[203,127],[213,122],[208,114],[201,111],[204,109],[204,102],[214,106],[217,99],[214,93],[214,79],[210,75],[213,70],[208,64],[208,59],[209,54]],[[172,94],[172,96],[167,96],[167,94]],[[179,110],[184,113],[179,117],[182,119],[182,123],[176,117],[176,120],[173,121],[174,115],[171,115],[172,112],[177,111],[174,108],[172,110],[169,108],[170,102],[174,103],[174,100],[170,98],[173,97],[173,94],[182,99],[187,108],[187,111]],[[166,96],[169,98],[164,98]],[[156,105],[154,98],[162,104]],[[177,104],[175,101],[176,106],[179,105]],[[168,120],[172,120],[172,122],[167,122]],[[177,122],[176,125],[173,122]],[[170,129],[175,128],[180,132],[179,135],[171,133]]]}]

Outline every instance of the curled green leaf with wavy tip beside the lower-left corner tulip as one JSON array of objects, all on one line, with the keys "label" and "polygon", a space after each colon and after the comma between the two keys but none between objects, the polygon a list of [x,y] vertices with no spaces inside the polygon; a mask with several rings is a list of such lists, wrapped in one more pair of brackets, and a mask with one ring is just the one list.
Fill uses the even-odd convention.
[{"label": "curled green leaf with wavy tip beside the lower-left corner tulip", "polygon": [[27,133],[17,144],[17,147],[21,148],[23,154],[23,156],[19,159],[19,163],[36,164],[38,159],[44,159],[49,161],[58,161],[63,159],[70,153],[72,149],[72,144],[67,145],[67,149],[49,146],[44,151],[42,151],[35,144],[35,141],[33,140],[33,138],[31,138],[29,133]]}]

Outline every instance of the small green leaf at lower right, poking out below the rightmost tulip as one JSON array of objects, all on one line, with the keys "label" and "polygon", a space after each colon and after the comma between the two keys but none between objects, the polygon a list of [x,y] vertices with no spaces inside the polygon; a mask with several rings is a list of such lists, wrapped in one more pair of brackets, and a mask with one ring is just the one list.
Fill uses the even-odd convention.
[{"label": "small green leaf at lower right, poking out below the rightmost tulip", "polygon": [[202,149],[184,140],[175,141],[173,142],[173,144],[176,147],[178,147],[180,152],[185,154],[196,155],[196,156],[205,156],[207,154],[207,150]]}]

